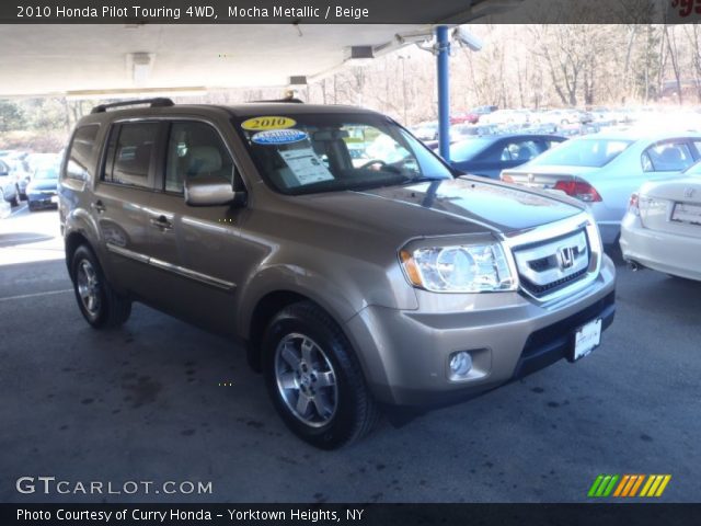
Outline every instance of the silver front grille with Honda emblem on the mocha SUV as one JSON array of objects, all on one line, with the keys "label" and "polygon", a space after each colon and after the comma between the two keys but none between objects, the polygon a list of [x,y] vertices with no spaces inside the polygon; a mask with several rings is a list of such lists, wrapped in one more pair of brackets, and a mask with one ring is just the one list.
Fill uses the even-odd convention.
[{"label": "silver front grille with Honda emblem on the mocha SUV", "polygon": [[537,298],[555,293],[586,276],[590,256],[585,229],[514,249],[521,285]]}]

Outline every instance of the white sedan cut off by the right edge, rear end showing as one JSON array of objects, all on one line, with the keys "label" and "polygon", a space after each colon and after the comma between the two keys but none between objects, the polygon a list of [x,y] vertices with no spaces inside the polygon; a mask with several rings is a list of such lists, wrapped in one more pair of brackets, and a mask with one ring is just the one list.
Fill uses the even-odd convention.
[{"label": "white sedan cut off by the right edge, rear end showing", "polygon": [[631,196],[621,251],[633,265],[701,281],[701,163]]}]

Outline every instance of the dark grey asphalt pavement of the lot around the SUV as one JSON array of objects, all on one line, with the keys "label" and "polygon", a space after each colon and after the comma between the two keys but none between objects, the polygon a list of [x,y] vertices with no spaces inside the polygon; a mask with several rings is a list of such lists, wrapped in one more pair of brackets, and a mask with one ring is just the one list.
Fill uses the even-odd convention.
[{"label": "dark grey asphalt pavement of the lot around the SUV", "polygon": [[658,501],[699,502],[701,283],[618,271],[590,356],[329,453],[285,428],[228,340],[140,305],[92,330],[57,213],[23,205],[0,219],[0,502],[587,502],[599,473],[669,473]]}]

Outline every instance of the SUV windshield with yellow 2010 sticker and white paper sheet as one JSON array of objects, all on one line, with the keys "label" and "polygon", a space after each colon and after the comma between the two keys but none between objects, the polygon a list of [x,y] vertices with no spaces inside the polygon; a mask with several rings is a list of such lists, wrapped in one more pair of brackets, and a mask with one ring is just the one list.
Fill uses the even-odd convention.
[{"label": "SUV windshield with yellow 2010 sticker and white paper sheet", "polygon": [[263,115],[237,126],[264,180],[284,194],[452,178],[425,146],[380,115]]}]

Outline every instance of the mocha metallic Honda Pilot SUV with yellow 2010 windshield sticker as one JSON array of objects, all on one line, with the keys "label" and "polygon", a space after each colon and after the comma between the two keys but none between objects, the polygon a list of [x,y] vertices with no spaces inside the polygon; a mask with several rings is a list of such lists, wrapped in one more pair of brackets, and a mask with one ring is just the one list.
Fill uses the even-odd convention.
[{"label": "mocha metallic Honda Pilot SUV with yellow 2010 windshield sticker", "polygon": [[614,267],[565,195],[463,176],[356,107],[129,104],[83,117],[61,167],[78,307],[244,342],[318,447],[575,362],[613,320]]}]

